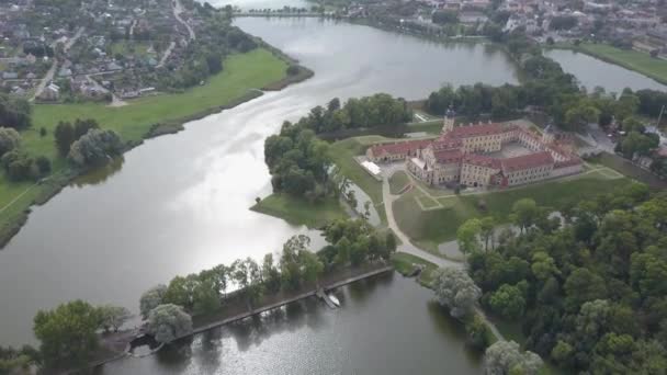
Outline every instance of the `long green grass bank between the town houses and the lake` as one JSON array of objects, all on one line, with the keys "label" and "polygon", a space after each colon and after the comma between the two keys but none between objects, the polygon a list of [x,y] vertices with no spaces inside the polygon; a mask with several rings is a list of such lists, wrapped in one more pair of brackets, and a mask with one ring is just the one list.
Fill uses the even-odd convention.
[{"label": "long green grass bank between the town houses and the lake", "polygon": [[[55,172],[46,183],[35,186],[32,182],[11,182],[0,172],[0,209],[5,207],[0,212],[0,245],[19,230],[32,204],[45,202],[72,178],[67,161],[55,148],[53,134],[59,121],[95,118],[103,128],[117,132],[128,145],[137,145],[146,137],[178,132],[186,121],[261,94],[252,89],[284,80],[287,63],[267,49],[256,49],[229,56],[224,66],[225,70],[204,86],[183,93],[133,100],[121,107],[99,103],[34,105],[33,126],[22,132],[22,144],[31,155],[50,158]],[[42,127],[47,130],[44,137],[39,136]]]}]

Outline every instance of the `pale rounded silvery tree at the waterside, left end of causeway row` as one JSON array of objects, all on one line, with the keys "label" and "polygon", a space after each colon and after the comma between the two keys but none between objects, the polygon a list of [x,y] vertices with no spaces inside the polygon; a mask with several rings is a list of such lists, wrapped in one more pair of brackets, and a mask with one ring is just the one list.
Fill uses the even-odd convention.
[{"label": "pale rounded silvery tree at the waterside, left end of causeway row", "polygon": [[159,305],[148,314],[148,332],[156,341],[169,343],[192,332],[192,318],[180,306]]}]

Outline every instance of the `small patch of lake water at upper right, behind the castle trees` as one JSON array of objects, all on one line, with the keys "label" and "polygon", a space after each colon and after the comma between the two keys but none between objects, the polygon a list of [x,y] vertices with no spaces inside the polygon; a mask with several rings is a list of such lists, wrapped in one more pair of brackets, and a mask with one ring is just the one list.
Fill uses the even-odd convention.
[{"label": "small patch of lake water at upper right, behind the castle trees", "polygon": [[598,86],[604,88],[607,92],[617,93],[621,93],[625,88],[634,91],[642,89],[667,91],[667,86],[658,81],[586,54],[569,49],[552,49],[546,50],[544,55],[558,61],[566,72],[575,75],[588,91],[592,91]]}]

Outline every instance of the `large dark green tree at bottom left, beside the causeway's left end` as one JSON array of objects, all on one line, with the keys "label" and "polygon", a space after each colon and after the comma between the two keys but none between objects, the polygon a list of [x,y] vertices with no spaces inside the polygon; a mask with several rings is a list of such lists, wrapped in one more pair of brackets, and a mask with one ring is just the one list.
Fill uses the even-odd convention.
[{"label": "large dark green tree at bottom left, beside the causeway's left end", "polygon": [[84,365],[98,348],[99,323],[98,309],[80,299],[39,310],[33,330],[41,341],[45,367]]}]

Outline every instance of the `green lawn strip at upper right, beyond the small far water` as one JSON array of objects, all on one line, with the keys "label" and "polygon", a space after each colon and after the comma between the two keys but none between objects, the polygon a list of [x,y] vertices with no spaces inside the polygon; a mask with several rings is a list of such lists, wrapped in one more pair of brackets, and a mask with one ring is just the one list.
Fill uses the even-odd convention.
[{"label": "green lawn strip at upper right, beyond the small far water", "polygon": [[667,61],[651,57],[648,54],[634,49],[620,49],[608,44],[599,43],[581,43],[575,49],[579,49],[602,60],[638,71],[644,76],[667,83]]}]

